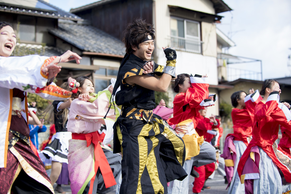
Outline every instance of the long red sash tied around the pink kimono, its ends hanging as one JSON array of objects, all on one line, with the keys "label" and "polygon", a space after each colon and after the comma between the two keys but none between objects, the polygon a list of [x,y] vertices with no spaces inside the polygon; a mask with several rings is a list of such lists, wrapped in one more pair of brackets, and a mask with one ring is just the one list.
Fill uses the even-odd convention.
[{"label": "long red sash tied around the pink kimono, its ends hanging", "polygon": [[91,179],[89,193],[92,193],[93,191],[93,183],[94,183],[98,168],[100,168],[106,188],[116,185],[116,181],[114,179],[110,165],[106,159],[106,156],[102,150],[102,147],[100,146],[100,139],[99,139],[98,131],[88,133],[88,134],[72,133],[72,139],[79,139],[79,140],[87,141],[87,147],[89,147],[91,143],[93,143],[94,145],[95,175]]}]

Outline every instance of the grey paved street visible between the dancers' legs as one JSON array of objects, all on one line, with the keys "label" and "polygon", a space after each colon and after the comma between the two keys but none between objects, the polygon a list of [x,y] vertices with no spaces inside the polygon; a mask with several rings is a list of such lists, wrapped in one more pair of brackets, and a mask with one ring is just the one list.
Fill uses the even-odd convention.
[{"label": "grey paved street visible between the dancers' legs", "polygon": [[[189,181],[189,194],[192,194],[192,186],[191,182],[194,181],[194,177],[190,176]],[[214,175],[214,179],[208,179],[206,182],[207,186],[211,186],[210,189],[205,189],[204,191],[201,191],[201,194],[226,194],[227,190],[226,184],[224,184],[224,178],[223,176],[219,175],[217,172]],[[54,185],[54,188],[56,187],[56,184]],[[67,192],[67,194],[71,194],[71,188],[69,185],[62,185],[63,189]],[[108,194],[115,194],[115,190],[109,192]]]}]

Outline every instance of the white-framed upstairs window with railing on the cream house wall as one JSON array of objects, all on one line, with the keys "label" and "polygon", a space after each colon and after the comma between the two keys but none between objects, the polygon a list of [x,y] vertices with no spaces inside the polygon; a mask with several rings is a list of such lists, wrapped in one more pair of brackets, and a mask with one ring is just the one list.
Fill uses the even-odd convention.
[{"label": "white-framed upstairs window with railing on the cream house wall", "polygon": [[201,53],[199,22],[171,17],[171,46],[178,50]]}]

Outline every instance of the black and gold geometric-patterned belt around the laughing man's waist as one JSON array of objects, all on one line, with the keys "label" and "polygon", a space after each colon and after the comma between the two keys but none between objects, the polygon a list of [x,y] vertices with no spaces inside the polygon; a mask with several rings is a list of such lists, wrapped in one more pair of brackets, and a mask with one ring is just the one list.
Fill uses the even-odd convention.
[{"label": "black and gold geometric-patterned belt around the laughing man's waist", "polygon": [[123,118],[129,118],[129,119],[137,119],[137,120],[145,120],[146,122],[149,122],[152,120],[152,110],[143,110],[139,108],[130,108],[126,106],[122,106],[121,108],[121,116]]}]

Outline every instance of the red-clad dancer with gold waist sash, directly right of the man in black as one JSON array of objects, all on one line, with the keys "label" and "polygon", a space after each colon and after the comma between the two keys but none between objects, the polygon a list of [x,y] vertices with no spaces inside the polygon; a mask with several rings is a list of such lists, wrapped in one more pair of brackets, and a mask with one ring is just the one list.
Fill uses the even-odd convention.
[{"label": "red-clad dancer with gold waist sash, directly right of the man in black", "polygon": [[[186,159],[183,168],[188,173],[188,177],[186,177],[182,183],[180,181],[171,182],[168,189],[169,193],[185,193],[188,191],[189,175],[192,169],[192,163],[196,158],[199,159],[199,155],[203,155],[201,152],[209,152],[210,155],[212,153],[214,160],[211,160],[212,158],[210,158],[209,155],[207,158],[202,156],[201,160],[204,160],[204,163],[201,163],[201,161],[196,161],[198,166],[203,166],[215,161],[215,149],[209,143],[203,143],[204,134],[201,136],[195,130],[198,124],[198,118],[200,118],[200,114],[198,112],[199,109],[201,107],[214,105],[214,101],[216,100],[215,96],[208,94],[208,87],[209,84],[207,76],[189,76],[188,74],[180,74],[175,80],[174,91],[180,93],[174,98],[174,115],[173,118],[168,120],[168,123],[175,126],[174,130],[184,140],[186,147]],[[199,144],[201,145],[201,149]],[[201,168],[204,168],[204,166]],[[212,173],[210,173],[210,175],[211,174]],[[207,174],[207,176],[209,175]],[[205,179],[203,178],[202,186],[194,186],[194,193],[199,193],[201,191],[204,180]]]}]

